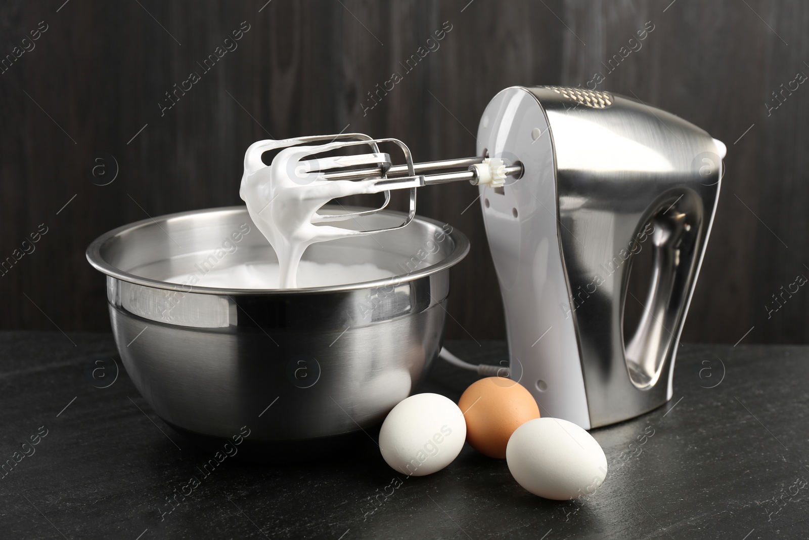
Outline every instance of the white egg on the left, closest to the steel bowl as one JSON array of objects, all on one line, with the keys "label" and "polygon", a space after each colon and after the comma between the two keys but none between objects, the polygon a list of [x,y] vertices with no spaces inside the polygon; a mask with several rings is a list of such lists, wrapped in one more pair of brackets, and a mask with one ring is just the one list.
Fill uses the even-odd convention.
[{"label": "white egg on the left, closest to the steel bowl", "polygon": [[409,476],[442,470],[458,457],[464,440],[464,413],[437,393],[417,393],[399,402],[379,430],[382,457]]}]

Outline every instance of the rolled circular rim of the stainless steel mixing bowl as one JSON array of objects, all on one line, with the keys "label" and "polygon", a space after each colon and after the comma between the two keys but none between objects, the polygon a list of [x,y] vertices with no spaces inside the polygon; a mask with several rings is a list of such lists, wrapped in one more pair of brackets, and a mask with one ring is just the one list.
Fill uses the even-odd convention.
[{"label": "rolled circular rim of the stainless steel mixing bowl", "polygon": [[[346,209],[349,210],[371,210],[370,208],[365,208],[363,206],[345,206]],[[99,236],[95,240],[93,240],[90,245],[87,246],[87,261],[95,268],[95,270],[99,270],[102,274],[106,274],[111,278],[120,279],[121,281],[134,283],[136,285],[141,285],[143,287],[150,287],[156,289],[164,289],[167,291],[182,291],[185,294],[188,293],[196,293],[196,294],[206,294],[206,295],[220,295],[220,296],[284,296],[289,295],[290,293],[294,293],[296,295],[300,294],[320,294],[320,293],[330,293],[330,292],[349,292],[349,291],[358,291],[363,289],[370,289],[374,287],[384,287],[391,284],[398,284],[398,283],[407,283],[410,281],[414,281],[416,279],[421,279],[431,274],[437,274],[443,270],[448,270],[451,266],[455,266],[458,262],[464,259],[469,253],[469,240],[464,235],[463,232],[460,232],[455,227],[451,227],[451,231],[447,232],[447,236],[452,239],[453,242],[453,249],[447,257],[444,257],[441,261],[437,263],[425,266],[420,270],[415,270],[413,272],[408,272],[406,274],[396,274],[389,278],[382,278],[382,279],[375,279],[372,281],[364,281],[359,283],[345,283],[343,285],[329,285],[328,287],[298,287],[298,288],[289,288],[289,289],[238,289],[238,288],[223,288],[223,287],[197,287],[193,285],[183,285],[181,283],[169,283],[165,281],[158,281],[156,279],[149,279],[143,278],[141,276],[130,274],[129,272],[125,272],[112,266],[107,261],[104,260],[104,257],[101,257],[101,247],[111,240],[113,237],[121,235],[123,232],[132,231],[137,229],[138,227],[145,227],[150,224],[157,224],[160,221],[167,221],[168,219],[180,218],[187,215],[194,215],[194,214],[204,214],[207,212],[228,212],[228,211],[244,211],[247,212],[247,206],[214,206],[212,208],[202,208],[198,210],[186,210],[183,212],[176,212],[173,214],[165,214],[159,215],[155,218],[149,219],[141,219],[140,221],[135,221],[133,223],[127,223],[125,225],[121,225],[121,227],[116,227],[111,231],[105,232],[103,235]],[[399,215],[402,217],[406,217],[407,214],[404,212],[400,212],[398,210],[381,210],[381,213],[388,214],[388,215]],[[443,223],[438,221],[437,219],[426,218],[421,215],[416,215],[413,220],[420,220],[427,223],[432,223],[440,228],[443,228],[444,225],[448,223]],[[268,242],[269,244],[269,242]]]}]

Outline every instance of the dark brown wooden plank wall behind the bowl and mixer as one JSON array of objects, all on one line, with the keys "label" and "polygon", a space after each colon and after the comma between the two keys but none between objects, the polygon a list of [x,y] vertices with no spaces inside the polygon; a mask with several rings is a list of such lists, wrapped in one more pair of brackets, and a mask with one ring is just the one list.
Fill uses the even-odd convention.
[{"label": "dark brown wooden plank wall behind the bowl and mixer", "polygon": [[[809,287],[769,318],[765,308],[809,276],[809,85],[771,115],[765,106],[781,83],[809,74],[809,3],[265,2],[0,4],[2,54],[48,25],[0,74],[0,259],[49,227],[0,277],[0,328],[107,330],[104,279],[85,260],[87,244],[147,214],[241,204],[242,159],[257,139],[345,129],[401,138],[417,160],[472,155],[497,91],[584,86],[651,21],[642,49],[599,89],[635,94],[728,147],[684,338],[735,343],[752,329],[744,342],[809,341]],[[238,49],[161,116],[164,92],[201,71],[197,62],[243,21]],[[445,21],[452,30],[440,48],[363,115],[366,92]],[[115,181],[98,185],[115,164]],[[502,338],[480,212],[462,213],[476,196],[468,185],[423,189],[419,213],[472,240],[452,272],[448,335]]]}]

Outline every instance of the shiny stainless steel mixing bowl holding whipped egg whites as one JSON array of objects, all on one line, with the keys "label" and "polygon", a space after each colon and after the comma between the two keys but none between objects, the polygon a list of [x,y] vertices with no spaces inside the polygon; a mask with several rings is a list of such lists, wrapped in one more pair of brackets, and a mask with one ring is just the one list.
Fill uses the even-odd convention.
[{"label": "shiny stainless steel mixing bowl holding whipped egg whites", "polygon": [[[336,210],[336,209],[331,209]],[[361,210],[361,209],[349,209]],[[392,227],[399,212],[367,216]],[[247,232],[245,232],[247,231]],[[432,219],[314,244],[305,260],[390,270],[334,287],[197,287],[212,269],[276,261],[244,206],[145,219],[100,236],[112,331],[134,385],[167,423],[204,436],[307,440],[379,423],[417,385],[443,339],[449,269],[466,237]],[[188,275],[188,284],[163,280]]]}]

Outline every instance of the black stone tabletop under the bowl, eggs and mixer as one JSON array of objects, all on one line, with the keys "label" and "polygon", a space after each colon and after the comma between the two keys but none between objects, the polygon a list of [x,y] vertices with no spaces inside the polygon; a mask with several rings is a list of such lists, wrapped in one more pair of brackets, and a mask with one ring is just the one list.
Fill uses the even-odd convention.
[{"label": "black stone tabletop under the bowl, eggs and mixer", "polygon": [[[502,342],[447,348],[506,358]],[[530,495],[468,445],[405,478],[367,436],[331,458],[237,456],[202,477],[211,454],[123,368],[114,379],[114,361],[109,334],[0,332],[0,462],[15,461],[0,474],[0,538],[809,538],[809,347],[685,345],[671,402],[594,430],[607,479],[565,502]],[[420,390],[457,400],[475,378],[437,361]]]}]

